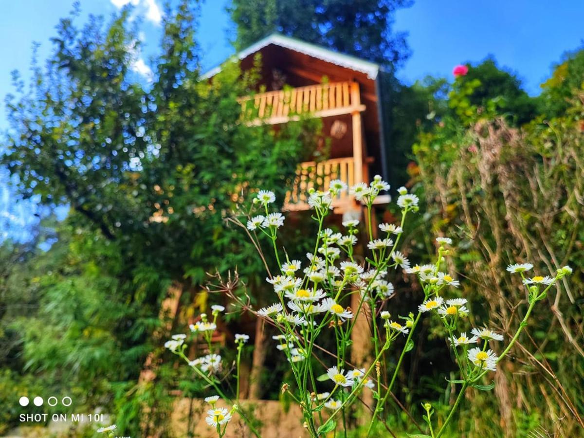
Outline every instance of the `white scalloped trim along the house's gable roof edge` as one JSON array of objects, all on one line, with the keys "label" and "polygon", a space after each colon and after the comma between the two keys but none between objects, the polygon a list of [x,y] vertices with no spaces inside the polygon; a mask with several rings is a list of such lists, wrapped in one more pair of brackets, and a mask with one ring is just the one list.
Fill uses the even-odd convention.
[{"label": "white scalloped trim along the house's gable roof edge", "polygon": [[[235,54],[234,57],[242,60],[252,53],[256,53],[262,48],[269,46],[270,44],[289,48],[290,50],[304,53],[305,55],[309,55],[323,61],[331,62],[331,64],[340,65],[340,67],[346,67],[354,71],[359,71],[366,74],[370,79],[376,79],[379,72],[379,65],[375,64],[374,62],[360,60],[359,58],[355,58],[350,55],[338,53],[328,48],[316,46],[315,44],[311,43],[305,43],[304,41],[298,40],[296,38],[283,36],[277,33],[273,33],[265,37],[263,40],[259,40],[257,43],[252,44],[252,46],[249,46],[248,48]],[[202,75],[201,78],[211,78],[220,71],[221,66],[215,67]]]}]

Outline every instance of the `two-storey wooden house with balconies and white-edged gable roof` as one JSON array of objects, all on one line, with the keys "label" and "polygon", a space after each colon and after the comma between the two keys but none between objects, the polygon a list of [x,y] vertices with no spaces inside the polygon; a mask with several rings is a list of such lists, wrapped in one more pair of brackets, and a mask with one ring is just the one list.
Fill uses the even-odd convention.
[{"label": "two-storey wooden house with balconies and white-edged gable roof", "polygon": [[[388,119],[383,105],[387,76],[378,64],[280,34],[267,36],[235,57],[245,71],[253,67],[258,54],[262,60],[258,89],[238,99],[242,122],[277,126],[318,117],[330,138],[325,159],[315,154],[298,165],[284,210],[308,210],[307,190],[326,187],[332,179],[343,180],[349,187],[369,183],[377,174],[389,179],[383,129]],[[218,71],[220,67],[204,77]],[[380,196],[377,203],[389,199],[389,195]],[[333,201],[333,207],[339,214],[360,211],[348,189]]]}]

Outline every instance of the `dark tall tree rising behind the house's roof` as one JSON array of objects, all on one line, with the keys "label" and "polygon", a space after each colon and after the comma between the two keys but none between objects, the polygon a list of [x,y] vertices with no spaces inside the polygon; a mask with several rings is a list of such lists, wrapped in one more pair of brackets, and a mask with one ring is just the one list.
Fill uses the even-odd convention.
[{"label": "dark tall tree rising behind the house's roof", "polygon": [[377,62],[399,67],[409,56],[405,33],[392,32],[394,14],[410,0],[234,0],[235,47],[248,47],[272,32],[294,36]]}]

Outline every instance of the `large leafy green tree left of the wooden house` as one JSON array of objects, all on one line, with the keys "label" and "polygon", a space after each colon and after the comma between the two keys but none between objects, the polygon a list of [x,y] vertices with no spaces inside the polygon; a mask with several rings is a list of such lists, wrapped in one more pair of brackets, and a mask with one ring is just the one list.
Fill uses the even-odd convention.
[{"label": "large leafy green tree left of the wooden house", "polygon": [[[308,122],[278,131],[239,123],[237,98],[255,75],[232,64],[200,81],[198,8],[184,0],[168,10],[152,84],[131,69],[139,42],[128,9],[83,27],[74,13],[61,20],[47,67],[35,66],[31,91],[9,100],[2,164],[23,196],[71,206],[47,253],[54,265],[42,277],[39,313],[20,327],[13,354],[55,386],[70,377],[87,405],[117,406],[121,430],[136,435],[165,430],[176,372],[161,366],[154,381],[138,377],[147,356],[156,364],[165,354],[167,323],[184,328],[206,273],[238,266],[244,279],[265,277],[226,218],[256,187],[282,203],[315,132]],[[179,310],[161,321],[171,284],[182,291]]]}]

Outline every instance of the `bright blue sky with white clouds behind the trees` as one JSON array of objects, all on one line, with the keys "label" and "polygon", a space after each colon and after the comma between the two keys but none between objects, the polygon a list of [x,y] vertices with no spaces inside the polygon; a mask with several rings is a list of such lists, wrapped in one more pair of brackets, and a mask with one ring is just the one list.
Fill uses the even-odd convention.
[{"label": "bright blue sky with white clouds behind the trees", "polygon": [[[131,4],[142,17],[142,52],[136,54],[134,69],[148,81],[150,58],[155,54],[163,0],[82,0],[82,16],[89,13],[111,15]],[[58,20],[72,8],[72,0],[0,1],[0,130],[8,127],[4,96],[12,92],[11,71],[27,77],[33,42],[41,44],[40,60],[50,49]],[[230,0],[207,0],[201,14],[199,41],[204,51],[203,67],[209,68],[232,53],[232,29],[225,6]],[[451,77],[454,65],[478,62],[493,55],[499,65],[515,72],[531,95],[548,77],[551,66],[566,50],[583,44],[584,0],[549,2],[544,0],[418,0],[398,11],[395,30],[409,33],[412,57],[398,72],[406,83],[427,74]],[[6,221],[13,227],[34,221],[25,212],[34,207],[23,204],[9,209],[14,197],[0,175],[0,241]],[[24,221],[24,223],[23,223]],[[4,225],[3,225],[4,223]]]}]

